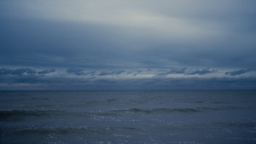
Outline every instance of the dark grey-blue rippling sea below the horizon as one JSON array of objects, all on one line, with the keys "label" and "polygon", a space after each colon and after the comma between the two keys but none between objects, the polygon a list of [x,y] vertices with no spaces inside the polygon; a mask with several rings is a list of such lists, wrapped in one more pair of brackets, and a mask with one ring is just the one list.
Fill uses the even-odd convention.
[{"label": "dark grey-blue rippling sea below the horizon", "polygon": [[0,91],[0,143],[255,144],[255,90]]}]

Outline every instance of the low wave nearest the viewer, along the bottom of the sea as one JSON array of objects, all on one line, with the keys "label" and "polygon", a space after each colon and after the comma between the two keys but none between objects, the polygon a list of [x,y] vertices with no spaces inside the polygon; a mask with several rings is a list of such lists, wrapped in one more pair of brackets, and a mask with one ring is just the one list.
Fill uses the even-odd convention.
[{"label": "low wave nearest the viewer, along the bottom of the sea", "polygon": [[[166,125],[164,127],[155,127],[154,129],[160,130],[184,130],[184,129],[201,129],[201,128],[243,128],[243,129],[254,129],[256,126],[255,122],[212,122],[203,124],[184,124],[182,127],[180,125]],[[153,128],[153,127],[152,127]],[[148,128],[148,129],[152,129]],[[147,130],[143,127],[133,125],[133,126],[55,126],[55,127],[16,127],[16,128],[1,128],[0,134],[3,132],[5,135],[8,134],[106,134],[108,132],[120,132],[120,131],[143,131]]]}]

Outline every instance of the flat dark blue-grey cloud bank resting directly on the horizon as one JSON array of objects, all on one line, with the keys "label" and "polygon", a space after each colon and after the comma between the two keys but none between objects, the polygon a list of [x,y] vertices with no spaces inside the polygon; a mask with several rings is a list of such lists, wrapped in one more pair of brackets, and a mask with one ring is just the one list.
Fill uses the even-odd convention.
[{"label": "flat dark blue-grey cloud bank resting directly on the horizon", "polygon": [[[255,89],[256,78],[43,78],[36,75],[3,78],[0,89],[69,90],[173,90],[173,89]],[[4,84],[4,85],[3,85]],[[16,85],[16,87],[12,87]],[[19,86],[20,85],[20,86]]]}]

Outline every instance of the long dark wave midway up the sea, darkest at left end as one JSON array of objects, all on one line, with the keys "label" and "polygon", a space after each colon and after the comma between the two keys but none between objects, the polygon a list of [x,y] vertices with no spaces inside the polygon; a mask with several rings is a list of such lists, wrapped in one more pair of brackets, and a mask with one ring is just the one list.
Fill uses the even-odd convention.
[{"label": "long dark wave midway up the sea, darkest at left end", "polygon": [[222,111],[238,107],[184,107],[184,108],[128,108],[128,109],[108,109],[103,111],[64,111],[64,110],[0,110],[0,121],[10,120],[14,118],[24,117],[40,117],[40,116],[75,116],[75,117],[91,117],[100,116],[117,116],[127,113],[159,113],[159,112],[202,112],[202,111]]}]

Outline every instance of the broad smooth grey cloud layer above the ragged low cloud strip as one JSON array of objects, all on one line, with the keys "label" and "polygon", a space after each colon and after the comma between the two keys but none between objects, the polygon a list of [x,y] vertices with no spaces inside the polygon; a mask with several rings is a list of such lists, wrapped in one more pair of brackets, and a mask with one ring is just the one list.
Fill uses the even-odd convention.
[{"label": "broad smooth grey cloud layer above the ragged low cloud strip", "polygon": [[[0,43],[2,48],[1,64],[64,67],[121,65],[129,68],[135,65],[144,68],[148,68],[148,66],[167,68],[170,63],[176,63],[182,67],[247,68],[255,66],[253,54],[256,51],[252,37],[255,37],[253,33],[256,30],[253,24],[256,25],[256,22],[252,17],[255,17],[256,13],[251,6],[253,4],[238,2],[228,4],[214,1],[186,2],[189,5],[183,5],[184,2],[159,3],[156,1],[137,3],[137,5],[133,1],[123,3],[126,5],[124,10],[128,11],[130,9],[137,10],[140,5],[145,5],[144,9],[140,9],[140,11],[143,10],[142,15],[135,11],[135,15],[131,15],[133,21],[126,27],[123,26],[123,23],[126,22],[123,15],[115,15],[120,20],[104,15],[104,13],[112,14],[114,10],[119,10],[114,5],[124,7],[122,3],[112,3],[112,5],[105,3],[106,11],[103,11],[104,13],[98,11],[96,20],[92,21],[90,19],[93,17],[87,17],[87,13],[83,10],[81,15],[84,14],[85,17],[73,18],[67,14],[67,17],[64,16],[68,19],[67,23],[59,20],[63,16],[48,15],[48,11],[44,10],[62,12],[64,9],[59,7],[59,9],[51,9],[45,5],[40,6],[31,2],[30,6],[38,8],[38,11],[33,11],[34,15],[32,15],[28,14],[32,9],[27,9],[27,14],[22,11],[24,3],[19,3],[19,6],[18,3],[17,5],[3,3],[1,4],[3,10],[7,10],[7,8],[15,10],[13,12],[9,10],[9,13],[3,11],[2,16],[0,15],[2,19],[0,37],[5,39]],[[248,3],[254,2],[248,1]],[[67,4],[67,8],[69,8],[67,2],[53,4]],[[102,7],[101,4],[95,5],[93,2],[90,4],[96,8]],[[218,13],[215,9],[217,5]],[[235,6],[239,6],[240,9],[234,9]],[[70,13],[76,13],[80,9],[79,5],[77,7],[77,9],[70,7]],[[177,9],[179,7],[185,7],[186,10]],[[27,7],[23,9],[25,8]],[[88,10],[94,12],[93,9]],[[120,14],[126,13],[120,11]],[[20,16],[20,19],[17,19],[17,15]],[[54,16],[54,19],[45,19],[44,16],[47,15]],[[138,21],[137,15],[144,19]],[[159,17],[154,17],[154,15]],[[102,22],[100,18],[102,18]],[[149,25],[147,20],[152,20],[150,21],[152,25]],[[172,25],[166,27],[161,24],[156,25],[158,20],[162,20],[163,24],[166,22],[166,24]],[[96,21],[99,22],[96,23]],[[176,32],[176,28],[186,23],[191,24],[192,27],[186,28],[187,31]],[[131,27],[130,24],[132,24]],[[141,25],[144,28],[141,28]],[[149,27],[147,28],[147,26]],[[189,26],[185,25],[184,27]],[[234,28],[230,29],[230,27]],[[244,27],[247,29],[244,30]],[[166,32],[162,32],[162,28],[166,28]],[[237,31],[238,29],[239,31]],[[212,31],[208,32],[209,30]],[[186,34],[186,32],[192,32],[192,37],[189,37],[189,33]],[[176,35],[169,36],[168,33]],[[183,43],[184,41],[186,43]],[[219,51],[230,52],[220,53]]]}]

